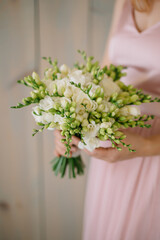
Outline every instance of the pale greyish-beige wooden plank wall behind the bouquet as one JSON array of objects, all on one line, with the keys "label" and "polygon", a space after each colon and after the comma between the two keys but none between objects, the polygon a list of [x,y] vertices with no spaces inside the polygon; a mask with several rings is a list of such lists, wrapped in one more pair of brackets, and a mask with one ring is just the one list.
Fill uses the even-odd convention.
[{"label": "pale greyish-beige wooden plank wall behind the bouquet", "polygon": [[[77,49],[101,60],[114,1],[0,1],[0,240],[81,239],[86,176],[53,175],[53,132],[32,138],[31,109],[11,110],[27,96],[16,80],[33,69],[43,73],[40,56],[69,66]],[[86,156],[86,173],[89,160]]]}]

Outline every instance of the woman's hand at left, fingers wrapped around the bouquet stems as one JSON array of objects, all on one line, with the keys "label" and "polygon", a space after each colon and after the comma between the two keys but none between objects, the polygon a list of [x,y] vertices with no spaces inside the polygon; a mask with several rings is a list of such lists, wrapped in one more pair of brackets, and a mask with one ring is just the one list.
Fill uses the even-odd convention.
[{"label": "woman's hand at left, fingers wrapped around the bouquet stems", "polygon": [[[64,137],[61,135],[61,132],[59,130],[54,130],[54,155],[56,157],[64,156],[66,152],[66,147],[64,143],[61,142],[61,139]],[[72,142],[71,142],[71,150],[70,150],[70,157],[72,156],[72,153],[76,152],[78,150],[78,143],[79,143],[79,138],[77,137],[72,137]]]}]

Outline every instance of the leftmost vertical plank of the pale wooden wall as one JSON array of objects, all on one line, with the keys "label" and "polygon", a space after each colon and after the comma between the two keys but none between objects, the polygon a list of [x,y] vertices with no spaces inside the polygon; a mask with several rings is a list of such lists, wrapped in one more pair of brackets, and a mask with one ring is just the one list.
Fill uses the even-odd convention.
[{"label": "leftmost vertical plank of the pale wooden wall", "polygon": [[0,32],[0,239],[38,240],[38,142],[31,136],[35,124],[31,109],[9,108],[29,94],[16,80],[35,68],[33,0],[1,1]]}]

